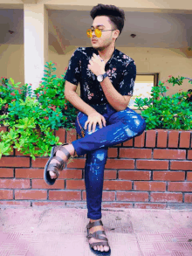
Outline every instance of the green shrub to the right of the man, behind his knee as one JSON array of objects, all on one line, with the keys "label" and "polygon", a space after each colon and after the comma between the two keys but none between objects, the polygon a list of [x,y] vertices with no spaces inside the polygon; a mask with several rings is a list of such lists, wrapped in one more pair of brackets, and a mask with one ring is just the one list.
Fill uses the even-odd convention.
[{"label": "green shrub to the right of the man, behind his knee", "polygon": [[[174,78],[173,76],[168,83],[173,83],[181,86],[184,77]],[[192,83],[189,80],[189,83]],[[179,92],[170,96],[165,96],[169,89],[168,86],[163,86],[164,82],[159,82],[159,86],[154,86],[151,90],[151,97],[136,98],[134,107],[138,107],[141,111],[141,116],[146,121],[146,129],[162,128],[162,129],[192,129],[192,93]]]}]

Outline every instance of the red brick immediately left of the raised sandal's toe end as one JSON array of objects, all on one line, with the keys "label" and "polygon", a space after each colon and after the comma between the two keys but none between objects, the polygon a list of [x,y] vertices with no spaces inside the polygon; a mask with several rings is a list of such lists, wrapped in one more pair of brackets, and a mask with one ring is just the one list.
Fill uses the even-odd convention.
[{"label": "red brick immediately left of the raised sandal's toe end", "polygon": [[16,178],[43,178],[44,169],[16,169]]}]

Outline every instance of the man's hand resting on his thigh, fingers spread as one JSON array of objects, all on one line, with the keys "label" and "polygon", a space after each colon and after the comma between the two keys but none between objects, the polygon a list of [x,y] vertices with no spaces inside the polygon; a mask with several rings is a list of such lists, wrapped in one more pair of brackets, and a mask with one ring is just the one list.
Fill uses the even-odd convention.
[{"label": "man's hand resting on his thigh, fingers spread", "polygon": [[97,122],[99,123],[99,128],[102,128],[102,122],[101,121],[103,121],[104,126],[106,126],[105,117],[103,115],[99,114],[98,112],[93,112],[92,114],[88,115],[88,120],[86,121],[84,128],[86,129],[86,126],[89,123],[88,132],[91,132],[92,125],[93,125],[93,133],[94,133]]}]

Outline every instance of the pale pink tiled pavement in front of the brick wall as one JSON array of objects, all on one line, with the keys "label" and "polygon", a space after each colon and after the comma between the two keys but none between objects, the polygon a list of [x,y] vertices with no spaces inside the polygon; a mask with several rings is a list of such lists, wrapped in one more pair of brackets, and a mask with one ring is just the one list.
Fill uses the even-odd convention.
[{"label": "pale pink tiled pavement in front of the brick wall", "polygon": [[[86,209],[1,208],[1,256],[92,256]],[[112,256],[192,256],[192,210],[102,209]]]}]

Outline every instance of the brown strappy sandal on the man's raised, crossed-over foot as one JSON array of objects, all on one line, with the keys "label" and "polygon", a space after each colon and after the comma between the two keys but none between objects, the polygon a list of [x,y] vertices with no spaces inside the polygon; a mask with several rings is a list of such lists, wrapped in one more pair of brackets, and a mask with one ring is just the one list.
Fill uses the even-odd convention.
[{"label": "brown strappy sandal on the man's raised, crossed-over foot", "polygon": [[[48,160],[48,162],[46,163],[45,170],[44,170],[44,179],[48,185],[53,185],[55,183],[56,179],[58,178],[58,170],[63,170],[64,164],[66,167],[66,162],[61,157],[56,156],[57,151],[58,150],[62,151],[65,154],[65,156],[67,157],[67,160],[71,157],[69,151],[67,149],[63,148],[63,146],[68,145],[68,144],[69,143],[64,143],[59,146],[53,146],[51,149],[51,156],[50,156],[50,159]],[[49,164],[52,159],[58,160],[59,163]],[[53,171],[57,175],[57,177],[51,178],[50,173],[49,173],[50,171]]]}]

